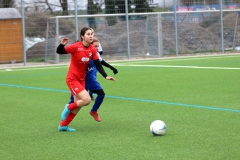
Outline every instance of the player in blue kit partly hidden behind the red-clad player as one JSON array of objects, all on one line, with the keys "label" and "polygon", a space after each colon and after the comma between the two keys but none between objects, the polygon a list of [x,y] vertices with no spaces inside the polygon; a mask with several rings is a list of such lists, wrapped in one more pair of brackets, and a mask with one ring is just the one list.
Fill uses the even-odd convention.
[{"label": "player in blue kit partly hidden behind the red-clad player", "polygon": [[[99,40],[97,38],[93,38],[93,42],[92,42],[92,45],[98,50],[98,47],[99,47]],[[113,66],[111,66],[110,64],[108,64],[107,62],[105,62],[100,54],[98,55],[99,56],[99,61],[101,62],[101,64],[105,67],[108,67],[110,68],[114,74],[117,74],[118,73],[118,70],[116,68],[114,68]],[[93,116],[93,118],[100,122],[101,121],[101,118],[98,116],[98,109],[99,107],[101,106],[102,102],[103,102],[103,99],[105,97],[105,93],[101,87],[101,85],[99,84],[99,82],[97,81],[97,77],[96,77],[96,74],[97,74],[97,69],[94,65],[94,62],[93,60],[90,61],[90,63],[88,64],[88,67],[87,67],[87,73],[86,73],[86,78],[85,78],[85,89],[89,92],[92,92],[92,93],[96,93],[97,94],[97,97],[94,101],[94,105],[90,111],[90,114]],[[74,99],[73,99],[73,96],[71,95],[70,97],[70,102],[69,104],[73,103],[74,102]]]}]

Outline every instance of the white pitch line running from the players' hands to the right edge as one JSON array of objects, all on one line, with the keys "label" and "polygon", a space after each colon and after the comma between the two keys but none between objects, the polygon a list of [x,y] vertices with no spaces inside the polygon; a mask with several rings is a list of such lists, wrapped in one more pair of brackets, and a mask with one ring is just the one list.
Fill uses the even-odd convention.
[{"label": "white pitch line running from the players' hands to the right edge", "polygon": [[200,67],[200,66],[172,66],[172,65],[114,64],[114,66],[124,66],[124,67],[159,67],[159,68],[197,68],[197,69],[240,70],[240,68],[230,68],[230,67]]}]

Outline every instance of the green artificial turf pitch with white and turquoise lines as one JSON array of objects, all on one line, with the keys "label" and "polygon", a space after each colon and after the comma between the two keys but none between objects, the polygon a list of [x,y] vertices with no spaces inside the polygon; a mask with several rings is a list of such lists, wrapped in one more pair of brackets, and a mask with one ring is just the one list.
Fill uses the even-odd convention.
[{"label": "green artificial turf pitch with white and turquoise lines", "polygon": [[[85,106],[59,132],[67,66],[0,70],[0,159],[237,160],[240,56],[111,63],[100,123]],[[95,95],[96,96],[96,95]],[[153,136],[152,121],[167,125]]]}]

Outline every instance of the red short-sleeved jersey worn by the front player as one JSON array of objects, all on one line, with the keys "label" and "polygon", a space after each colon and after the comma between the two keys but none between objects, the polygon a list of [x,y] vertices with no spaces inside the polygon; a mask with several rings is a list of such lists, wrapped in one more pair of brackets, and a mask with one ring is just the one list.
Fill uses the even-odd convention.
[{"label": "red short-sleeved jersey worn by the front player", "polygon": [[85,81],[87,66],[91,59],[99,59],[96,48],[90,44],[86,48],[82,42],[73,43],[65,46],[67,53],[71,54],[69,73],[74,74],[80,81]]}]

